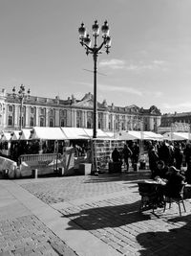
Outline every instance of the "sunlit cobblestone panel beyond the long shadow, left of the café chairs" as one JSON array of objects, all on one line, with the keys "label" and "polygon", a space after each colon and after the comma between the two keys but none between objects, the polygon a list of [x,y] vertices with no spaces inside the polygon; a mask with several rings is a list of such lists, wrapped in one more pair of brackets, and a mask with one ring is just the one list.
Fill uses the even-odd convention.
[{"label": "sunlit cobblestone panel beyond the long shadow, left of the caf\u00e9 chairs", "polygon": [[[141,176],[140,176],[141,177]],[[135,175],[100,175],[73,176],[46,179],[47,182],[32,182],[22,184],[22,187],[48,204],[73,200],[77,198],[92,198],[121,191],[129,191],[129,186],[121,181],[135,179]]]}]

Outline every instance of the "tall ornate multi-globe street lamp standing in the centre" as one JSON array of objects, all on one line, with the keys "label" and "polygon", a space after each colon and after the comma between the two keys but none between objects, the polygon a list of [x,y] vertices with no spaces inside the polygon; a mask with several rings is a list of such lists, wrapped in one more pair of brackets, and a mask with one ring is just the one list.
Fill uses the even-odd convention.
[{"label": "tall ornate multi-globe street lamp standing in the centre", "polygon": [[[101,26],[102,32],[102,42],[99,46],[97,46],[97,37],[99,36],[99,25],[97,24],[97,20],[95,24],[92,26],[93,36],[94,36],[94,46],[91,47],[91,37],[86,32],[86,28],[84,24],[81,23],[81,27],[78,29],[79,40],[82,46],[86,49],[86,54],[92,54],[94,59],[94,120],[93,120],[93,139],[96,139],[96,112],[97,112],[97,104],[96,104],[96,72],[97,72],[97,58],[98,54],[101,53],[101,49],[105,48],[105,52],[109,54],[109,49],[111,48],[111,37],[109,36],[109,26],[108,22],[105,21]],[[95,167],[96,168],[96,167]]]}]

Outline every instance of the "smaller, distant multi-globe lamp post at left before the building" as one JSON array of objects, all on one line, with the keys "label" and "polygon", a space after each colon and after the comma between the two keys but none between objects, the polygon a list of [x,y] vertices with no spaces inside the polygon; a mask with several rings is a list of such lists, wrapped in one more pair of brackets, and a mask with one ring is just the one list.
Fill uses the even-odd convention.
[{"label": "smaller, distant multi-globe lamp post at left before the building", "polygon": [[23,121],[23,103],[25,100],[30,98],[30,89],[26,92],[25,85],[21,84],[18,92],[16,93],[15,86],[12,88],[12,96],[14,99],[18,99],[20,102],[20,123],[19,128],[22,129],[22,121]]}]

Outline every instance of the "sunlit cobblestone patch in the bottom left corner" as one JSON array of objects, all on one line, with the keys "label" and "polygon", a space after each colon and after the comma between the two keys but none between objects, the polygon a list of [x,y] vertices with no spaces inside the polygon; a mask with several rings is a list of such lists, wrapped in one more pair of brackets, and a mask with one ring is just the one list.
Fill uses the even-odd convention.
[{"label": "sunlit cobblestone patch in the bottom left corner", "polygon": [[0,255],[77,255],[35,216],[0,221]]}]

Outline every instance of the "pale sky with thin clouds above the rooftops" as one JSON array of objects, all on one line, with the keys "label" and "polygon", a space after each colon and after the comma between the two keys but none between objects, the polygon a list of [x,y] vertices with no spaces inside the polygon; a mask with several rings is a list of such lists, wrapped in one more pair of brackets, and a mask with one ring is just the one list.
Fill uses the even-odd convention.
[{"label": "pale sky with thin clouds above the rooftops", "polygon": [[111,53],[98,57],[99,102],[191,111],[190,0],[0,0],[0,87],[23,83],[61,99],[93,93],[78,27],[91,34],[96,19],[108,20],[112,36]]}]

